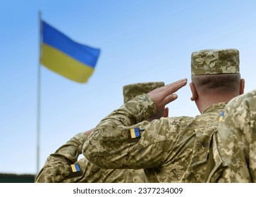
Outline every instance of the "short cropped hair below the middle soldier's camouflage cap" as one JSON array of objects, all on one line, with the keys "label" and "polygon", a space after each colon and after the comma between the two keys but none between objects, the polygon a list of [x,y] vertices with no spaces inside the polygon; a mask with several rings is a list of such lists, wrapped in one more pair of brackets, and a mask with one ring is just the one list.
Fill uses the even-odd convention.
[{"label": "short cropped hair below the middle soldier's camouflage cap", "polygon": [[240,90],[240,74],[192,75],[192,82],[201,94],[234,93]]}]

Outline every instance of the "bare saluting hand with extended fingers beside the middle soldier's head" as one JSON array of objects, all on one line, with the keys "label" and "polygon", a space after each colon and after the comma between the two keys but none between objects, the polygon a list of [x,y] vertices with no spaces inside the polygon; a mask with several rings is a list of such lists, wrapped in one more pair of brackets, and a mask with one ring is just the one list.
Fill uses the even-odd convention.
[{"label": "bare saluting hand with extended fingers beside the middle soldier's head", "polygon": [[152,98],[155,105],[157,106],[157,111],[164,108],[164,106],[166,106],[166,104],[170,103],[171,101],[176,100],[178,95],[173,93],[184,87],[187,82],[187,79],[178,80],[164,87],[150,91],[148,95]]}]

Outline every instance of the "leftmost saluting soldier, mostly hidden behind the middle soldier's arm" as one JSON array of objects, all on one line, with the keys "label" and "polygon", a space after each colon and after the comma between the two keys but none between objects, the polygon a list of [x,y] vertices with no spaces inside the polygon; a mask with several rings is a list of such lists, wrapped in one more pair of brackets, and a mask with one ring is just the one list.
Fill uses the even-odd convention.
[{"label": "leftmost saluting soldier, mostly hidden behind the middle soldier's arm", "polygon": [[[164,82],[147,82],[130,84],[123,87],[124,102],[128,102],[139,94],[145,94],[157,87],[163,87]],[[168,116],[168,108],[156,113],[150,118]],[[140,170],[102,169],[93,165],[86,158],[78,160],[82,145],[93,129],[75,135],[61,146],[55,153],[49,155],[44,167],[39,172],[35,182],[145,182],[145,173]],[[76,170],[76,167],[79,170]],[[73,170],[75,167],[75,170]],[[77,171],[77,172],[73,172]]]}]

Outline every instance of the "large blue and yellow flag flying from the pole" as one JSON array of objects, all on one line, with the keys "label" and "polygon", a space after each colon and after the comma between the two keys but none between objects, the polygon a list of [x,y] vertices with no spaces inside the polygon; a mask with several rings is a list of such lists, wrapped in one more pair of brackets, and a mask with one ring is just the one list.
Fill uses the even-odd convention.
[{"label": "large blue and yellow flag flying from the pole", "polygon": [[41,21],[40,63],[75,82],[87,82],[95,69],[99,49],[78,44],[51,25]]}]

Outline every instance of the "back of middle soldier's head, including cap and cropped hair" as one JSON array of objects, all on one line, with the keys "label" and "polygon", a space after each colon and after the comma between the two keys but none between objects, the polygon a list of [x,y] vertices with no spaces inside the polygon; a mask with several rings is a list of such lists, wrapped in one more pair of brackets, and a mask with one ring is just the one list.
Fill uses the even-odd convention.
[{"label": "back of middle soldier's head, including cap and cropped hair", "polygon": [[192,82],[199,94],[239,94],[239,51],[209,49],[191,56]]}]

